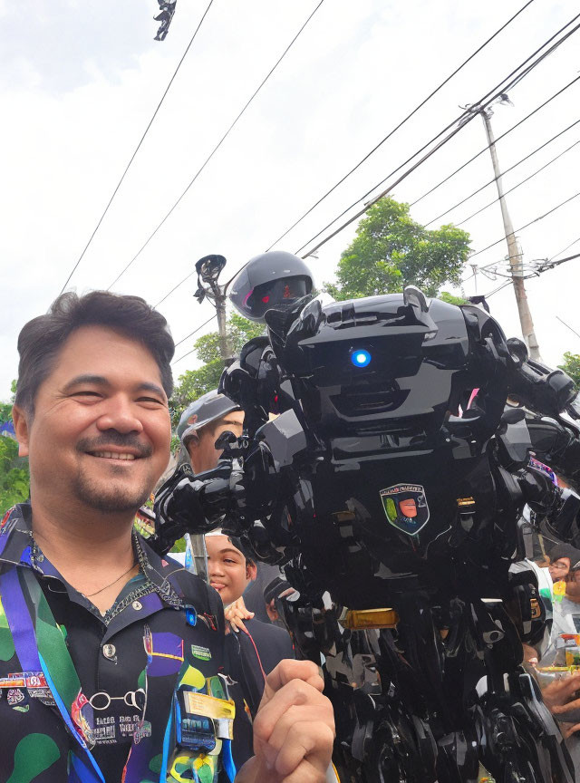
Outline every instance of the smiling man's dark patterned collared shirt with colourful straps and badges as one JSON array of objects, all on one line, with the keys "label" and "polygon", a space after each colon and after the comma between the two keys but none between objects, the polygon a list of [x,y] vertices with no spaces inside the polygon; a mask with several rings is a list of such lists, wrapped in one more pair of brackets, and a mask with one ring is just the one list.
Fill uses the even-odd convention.
[{"label": "smiling man's dark patterned collared shirt with colourful straps and badges", "polygon": [[233,780],[218,594],[135,534],[140,574],[102,615],[31,520],[0,527],[0,781]]}]

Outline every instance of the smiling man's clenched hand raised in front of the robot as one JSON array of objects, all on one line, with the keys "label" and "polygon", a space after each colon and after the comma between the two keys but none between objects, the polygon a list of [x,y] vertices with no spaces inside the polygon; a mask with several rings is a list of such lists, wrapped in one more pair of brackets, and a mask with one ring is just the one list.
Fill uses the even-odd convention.
[{"label": "smiling man's clenched hand raised in front of the robot", "polygon": [[333,753],[333,708],[310,661],[282,661],[266,679],[254,751],[236,783],[324,783]]}]

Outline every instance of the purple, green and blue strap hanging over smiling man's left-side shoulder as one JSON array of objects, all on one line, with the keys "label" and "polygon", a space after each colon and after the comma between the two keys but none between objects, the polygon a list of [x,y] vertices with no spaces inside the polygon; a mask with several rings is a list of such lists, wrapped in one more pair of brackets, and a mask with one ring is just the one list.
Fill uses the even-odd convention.
[{"label": "purple, green and blue strap hanging over smiling man's left-side shoulder", "polygon": [[[22,571],[22,583],[19,571]],[[24,598],[26,593],[32,603],[35,622]],[[21,666],[29,672],[42,670],[66,726],[89,761],[88,767],[74,765],[77,779],[81,783],[105,783],[97,762],[71,717],[73,702],[81,695],[81,681],[41,586],[30,569],[11,568],[0,575],[0,594]]]}]

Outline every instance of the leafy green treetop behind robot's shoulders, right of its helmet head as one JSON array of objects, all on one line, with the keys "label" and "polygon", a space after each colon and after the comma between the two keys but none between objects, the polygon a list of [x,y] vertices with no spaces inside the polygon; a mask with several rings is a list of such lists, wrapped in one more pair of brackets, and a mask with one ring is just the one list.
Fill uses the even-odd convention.
[{"label": "leafy green treetop behind robot's shoulders, right of its helmet head", "polygon": [[409,209],[388,197],[372,205],[341,256],[336,284],[325,285],[329,294],[355,299],[412,284],[434,296],[446,283],[459,285],[469,257],[469,234],[450,225],[431,231],[413,220]]}]

